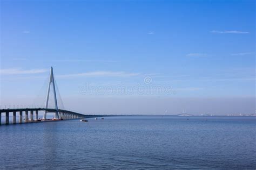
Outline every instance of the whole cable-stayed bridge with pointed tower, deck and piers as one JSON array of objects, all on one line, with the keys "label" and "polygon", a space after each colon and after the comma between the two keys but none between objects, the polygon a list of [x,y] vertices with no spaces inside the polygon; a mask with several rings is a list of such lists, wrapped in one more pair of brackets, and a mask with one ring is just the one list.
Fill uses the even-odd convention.
[{"label": "whole cable-stayed bridge with pointed tower, deck and piers", "polygon": [[[50,95],[50,89],[53,89],[53,96],[54,96],[54,107],[49,108],[49,95]],[[43,118],[38,118],[38,112],[44,111]],[[49,112],[54,113],[54,117],[52,119],[47,119],[46,116]],[[66,119],[78,119],[78,118],[85,118],[85,117],[100,117],[101,115],[84,115],[79,114],[77,112],[65,110],[65,109],[59,109],[58,108],[58,102],[57,102],[57,96],[56,96],[56,82],[53,76],[53,69],[51,67],[50,71],[50,79],[48,83],[48,90],[45,100],[45,107],[44,108],[16,108],[16,109],[0,109],[0,125],[2,122],[2,114],[5,113],[5,124],[9,124],[9,116],[10,113],[12,113],[12,123],[16,124],[16,117],[17,113],[19,115],[19,121],[18,123],[29,123],[29,122],[44,122],[44,121],[62,121]],[[25,118],[23,118],[23,113],[25,113]],[[30,113],[30,118],[29,118]]]}]

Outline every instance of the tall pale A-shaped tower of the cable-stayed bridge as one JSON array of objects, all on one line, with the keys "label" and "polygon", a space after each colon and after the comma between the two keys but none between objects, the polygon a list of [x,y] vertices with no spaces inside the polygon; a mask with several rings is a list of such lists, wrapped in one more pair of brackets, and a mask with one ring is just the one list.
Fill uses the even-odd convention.
[{"label": "tall pale A-shaped tower of the cable-stayed bridge", "polygon": [[[51,83],[52,83],[52,88],[53,88],[53,95],[54,95],[54,102],[55,102],[55,119],[59,119],[59,111],[58,111],[58,103],[57,103],[57,97],[56,97],[56,90],[55,90],[55,79],[53,77],[53,69],[51,67],[51,72],[50,72],[50,80],[48,84],[48,91],[47,91],[47,96],[46,96],[46,102],[45,102],[45,109],[48,109],[48,102],[49,102],[49,94],[50,94],[50,88],[51,88]],[[46,114],[47,111],[45,110],[44,112],[44,118],[46,119]]]}]

